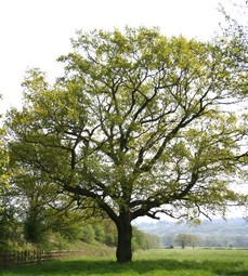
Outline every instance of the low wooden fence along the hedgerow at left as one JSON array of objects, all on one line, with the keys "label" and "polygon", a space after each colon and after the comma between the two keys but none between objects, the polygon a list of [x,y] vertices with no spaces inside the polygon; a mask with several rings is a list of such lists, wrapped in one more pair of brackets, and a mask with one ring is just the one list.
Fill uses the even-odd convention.
[{"label": "low wooden fence along the hedgerow at left", "polygon": [[41,263],[43,261],[55,260],[82,253],[83,251],[67,251],[67,250],[60,251],[25,250],[25,251],[0,252],[0,268]]}]

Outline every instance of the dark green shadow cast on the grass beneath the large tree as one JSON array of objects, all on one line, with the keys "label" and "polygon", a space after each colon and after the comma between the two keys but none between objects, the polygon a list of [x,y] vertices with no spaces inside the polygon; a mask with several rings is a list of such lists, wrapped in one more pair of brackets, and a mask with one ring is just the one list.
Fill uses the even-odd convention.
[{"label": "dark green shadow cast on the grass beneath the large tree", "polygon": [[[200,271],[210,272],[212,275],[247,276],[248,271],[242,262],[216,262],[216,261],[177,261],[177,260],[139,260],[129,264],[118,264],[107,260],[66,260],[51,261],[40,265],[30,265],[4,271],[8,275],[40,275],[40,276],[90,276],[90,275],[148,275],[155,271],[192,272],[192,275],[200,275]],[[198,271],[199,274],[196,274]],[[9,274],[10,272],[10,274]],[[16,274],[15,274],[16,273]],[[1,273],[0,273],[1,275]]]}]

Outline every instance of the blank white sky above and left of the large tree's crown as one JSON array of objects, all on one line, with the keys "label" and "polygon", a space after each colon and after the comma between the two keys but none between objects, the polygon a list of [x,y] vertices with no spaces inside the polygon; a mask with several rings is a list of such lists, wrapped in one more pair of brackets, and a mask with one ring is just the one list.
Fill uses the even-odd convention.
[{"label": "blank white sky above and left of the large tree's crown", "polygon": [[156,26],[169,37],[207,40],[219,29],[220,1],[0,0],[0,113],[21,106],[28,68],[40,68],[51,81],[63,73],[56,58],[71,51],[77,29]]}]

